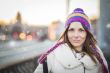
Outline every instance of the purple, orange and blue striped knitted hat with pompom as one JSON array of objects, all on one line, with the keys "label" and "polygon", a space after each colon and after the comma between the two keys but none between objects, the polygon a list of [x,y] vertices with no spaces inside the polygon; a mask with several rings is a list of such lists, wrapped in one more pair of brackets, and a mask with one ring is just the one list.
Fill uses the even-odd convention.
[{"label": "purple, orange and blue striped knitted hat with pompom", "polygon": [[91,24],[88,16],[84,13],[83,9],[76,8],[68,17],[66,21],[66,28],[72,23],[72,22],[80,22],[82,25],[84,25],[87,30],[91,30]]}]

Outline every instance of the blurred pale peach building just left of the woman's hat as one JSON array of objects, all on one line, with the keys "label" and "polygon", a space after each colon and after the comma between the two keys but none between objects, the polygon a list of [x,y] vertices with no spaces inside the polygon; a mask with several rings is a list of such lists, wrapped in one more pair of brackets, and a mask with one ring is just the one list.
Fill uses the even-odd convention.
[{"label": "blurred pale peach building just left of the woman's hat", "polygon": [[48,27],[48,38],[58,40],[64,31],[64,24],[60,20],[53,21]]}]

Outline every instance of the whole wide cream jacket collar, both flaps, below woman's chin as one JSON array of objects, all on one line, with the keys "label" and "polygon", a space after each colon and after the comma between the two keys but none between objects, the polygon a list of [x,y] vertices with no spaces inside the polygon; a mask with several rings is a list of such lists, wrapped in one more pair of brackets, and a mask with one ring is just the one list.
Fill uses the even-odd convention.
[{"label": "whole wide cream jacket collar, both flaps, below woman's chin", "polygon": [[84,63],[87,68],[93,68],[96,65],[87,54],[78,60],[67,44],[60,45],[54,50],[54,54],[58,62],[66,68],[75,68],[82,63]]}]

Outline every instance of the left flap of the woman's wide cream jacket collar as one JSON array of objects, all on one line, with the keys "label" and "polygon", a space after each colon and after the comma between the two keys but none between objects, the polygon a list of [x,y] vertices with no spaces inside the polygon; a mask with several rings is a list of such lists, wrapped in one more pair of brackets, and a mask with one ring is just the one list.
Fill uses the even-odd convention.
[{"label": "left flap of the woman's wide cream jacket collar", "polygon": [[66,68],[74,68],[81,65],[80,61],[75,59],[75,56],[67,44],[60,45],[54,53],[58,62]]}]

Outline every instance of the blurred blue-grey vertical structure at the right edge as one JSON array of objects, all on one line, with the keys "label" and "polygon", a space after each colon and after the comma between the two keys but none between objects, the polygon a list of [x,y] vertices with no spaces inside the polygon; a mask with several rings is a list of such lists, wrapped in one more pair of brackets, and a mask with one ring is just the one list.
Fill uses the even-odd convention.
[{"label": "blurred blue-grey vertical structure at the right edge", "polygon": [[100,21],[98,24],[98,41],[101,48],[110,48],[110,0],[100,0]]}]

